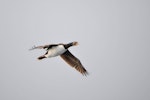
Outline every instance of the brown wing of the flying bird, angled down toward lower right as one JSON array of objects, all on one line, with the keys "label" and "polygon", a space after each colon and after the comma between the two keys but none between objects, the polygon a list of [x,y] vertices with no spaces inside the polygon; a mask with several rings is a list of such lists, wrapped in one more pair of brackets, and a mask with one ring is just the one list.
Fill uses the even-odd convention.
[{"label": "brown wing of the flying bird, angled down toward lower right", "polygon": [[72,55],[68,50],[60,55],[62,59],[64,59],[70,66],[74,67],[77,71],[79,71],[83,75],[87,75],[87,70],[83,67],[80,60]]}]

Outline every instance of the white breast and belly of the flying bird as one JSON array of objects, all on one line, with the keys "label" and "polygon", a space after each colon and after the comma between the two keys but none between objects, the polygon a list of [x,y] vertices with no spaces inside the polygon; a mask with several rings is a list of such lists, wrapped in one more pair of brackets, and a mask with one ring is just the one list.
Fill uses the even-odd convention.
[{"label": "white breast and belly of the flying bird", "polygon": [[67,51],[63,45],[52,47],[48,50],[48,54],[46,54],[46,57],[55,57],[63,54],[65,51]]}]

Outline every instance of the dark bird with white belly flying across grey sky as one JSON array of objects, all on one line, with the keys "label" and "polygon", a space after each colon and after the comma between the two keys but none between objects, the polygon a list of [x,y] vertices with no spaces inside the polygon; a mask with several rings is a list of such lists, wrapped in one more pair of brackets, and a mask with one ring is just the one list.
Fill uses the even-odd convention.
[{"label": "dark bird with white belly flying across grey sky", "polygon": [[78,42],[71,42],[68,44],[49,44],[44,46],[34,46],[30,50],[34,49],[46,49],[46,53],[40,57],[38,57],[38,60],[42,60],[44,58],[50,58],[50,57],[56,57],[60,56],[63,60],[65,60],[70,66],[75,68],[77,71],[79,71],[82,75],[87,75],[87,70],[83,67],[80,60],[76,58],[73,54],[70,53],[68,50],[71,46],[78,45]]}]

